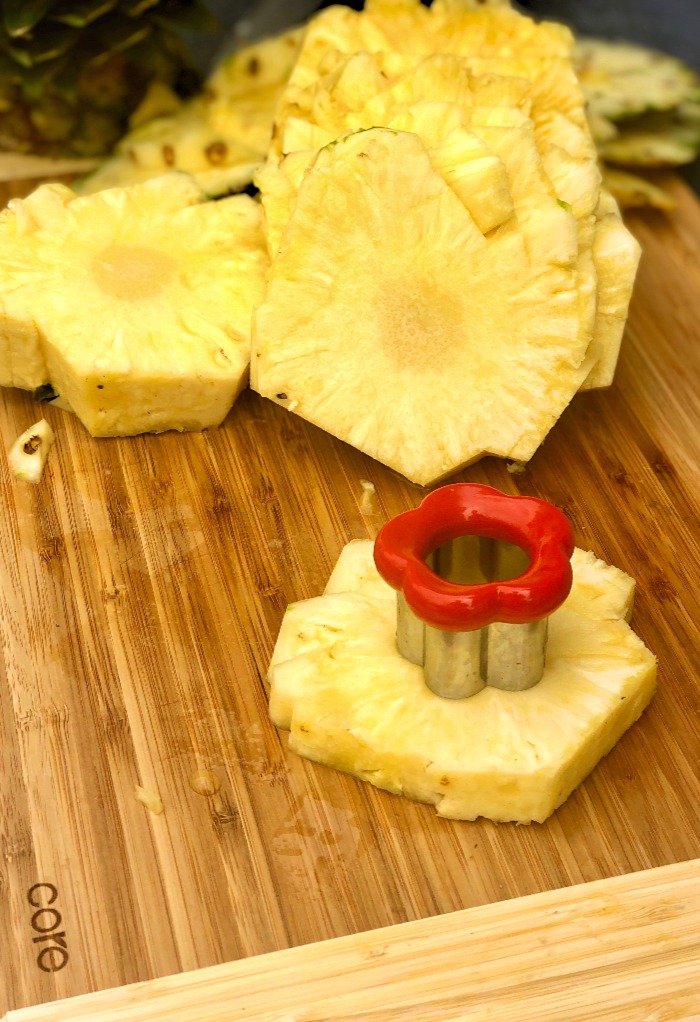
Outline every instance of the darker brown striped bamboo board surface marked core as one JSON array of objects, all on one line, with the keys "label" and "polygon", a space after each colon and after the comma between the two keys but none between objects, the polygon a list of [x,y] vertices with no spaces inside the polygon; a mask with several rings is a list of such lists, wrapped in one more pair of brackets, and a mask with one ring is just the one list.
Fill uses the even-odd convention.
[{"label": "darker brown striped bamboo board surface marked core", "polygon": [[[48,408],[37,487],[0,459],[0,1015],[700,855],[700,206],[672,188],[673,215],[629,218],[614,386],[576,397],[524,474],[460,476],[562,506],[638,578],[660,661],[642,721],[545,825],[438,820],[268,722],[286,604],[420,487],[250,392],[218,430],[124,440]],[[4,447],[39,417],[0,393]]]}]

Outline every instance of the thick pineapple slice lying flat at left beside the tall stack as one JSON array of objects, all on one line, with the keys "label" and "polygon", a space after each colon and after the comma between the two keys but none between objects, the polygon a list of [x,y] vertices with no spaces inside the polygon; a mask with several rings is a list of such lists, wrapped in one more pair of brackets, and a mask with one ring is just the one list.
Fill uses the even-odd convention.
[{"label": "thick pineapple slice lying flat at left beside the tall stack", "polygon": [[95,436],[221,422],[246,382],[267,253],[252,199],[202,198],[174,174],[82,198],[41,188],[13,202],[0,228],[14,238],[2,378],[50,380]]}]

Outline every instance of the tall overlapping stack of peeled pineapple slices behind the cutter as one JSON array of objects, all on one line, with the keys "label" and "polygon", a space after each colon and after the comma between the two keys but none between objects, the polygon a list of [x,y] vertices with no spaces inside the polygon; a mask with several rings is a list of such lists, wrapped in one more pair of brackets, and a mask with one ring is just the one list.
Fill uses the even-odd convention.
[{"label": "tall overlapping stack of peeled pineapple slices behind the cutter", "polygon": [[571,46],[506,4],[317,15],[256,177],[255,389],[428,484],[611,382],[639,247]]}]

